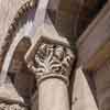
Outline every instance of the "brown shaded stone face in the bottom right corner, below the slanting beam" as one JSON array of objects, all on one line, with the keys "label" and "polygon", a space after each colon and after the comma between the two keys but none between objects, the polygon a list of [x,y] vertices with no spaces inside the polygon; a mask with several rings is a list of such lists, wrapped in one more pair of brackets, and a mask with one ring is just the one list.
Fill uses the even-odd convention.
[{"label": "brown shaded stone face in the bottom right corner, below the slanting beam", "polygon": [[94,73],[99,110],[110,110],[110,61]]}]

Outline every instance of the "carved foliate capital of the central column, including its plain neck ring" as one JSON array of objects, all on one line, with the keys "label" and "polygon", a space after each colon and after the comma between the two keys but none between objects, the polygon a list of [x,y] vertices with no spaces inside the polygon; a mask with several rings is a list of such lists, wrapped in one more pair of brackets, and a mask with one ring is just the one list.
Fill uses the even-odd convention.
[{"label": "carved foliate capital of the central column, including its plain neck ring", "polygon": [[59,78],[68,84],[75,56],[70,48],[59,42],[43,38],[37,42],[28,67],[35,74],[40,84],[47,78]]}]

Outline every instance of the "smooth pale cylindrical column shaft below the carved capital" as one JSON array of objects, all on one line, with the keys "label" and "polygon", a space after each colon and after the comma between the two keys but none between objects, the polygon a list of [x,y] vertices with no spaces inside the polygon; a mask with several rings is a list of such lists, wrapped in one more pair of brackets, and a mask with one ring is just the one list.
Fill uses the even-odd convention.
[{"label": "smooth pale cylindrical column shaft below the carved capital", "polygon": [[68,91],[64,81],[51,78],[40,85],[38,110],[69,110]]}]

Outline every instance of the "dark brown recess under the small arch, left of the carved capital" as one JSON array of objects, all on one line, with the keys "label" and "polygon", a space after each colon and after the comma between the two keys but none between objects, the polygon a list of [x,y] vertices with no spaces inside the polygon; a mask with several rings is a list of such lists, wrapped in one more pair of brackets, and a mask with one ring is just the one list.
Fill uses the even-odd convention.
[{"label": "dark brown recess under the small arch, left of the carved capital", "polygon": [[16,92],[24,99],[25,103],[30,103],[30,98],[35,89],[34,76],[30,74],[24,63],[24,55],[30,46],[31,41],[29,37],[23,37],[19,42],[8,70],[11,82],[16,89]]}]

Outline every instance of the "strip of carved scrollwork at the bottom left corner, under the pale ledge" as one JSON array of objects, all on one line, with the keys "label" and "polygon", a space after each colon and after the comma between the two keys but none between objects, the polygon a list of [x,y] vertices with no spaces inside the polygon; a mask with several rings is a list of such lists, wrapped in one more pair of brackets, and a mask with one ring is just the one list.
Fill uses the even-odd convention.
[{"label": "strip of carved scrollwork at the bottom left corner, under the pale ledge", "polygon": [[8,105],[8,103],[0,103],[0,110],[28,110],[25,107],[21,107],[20,105]]}]

